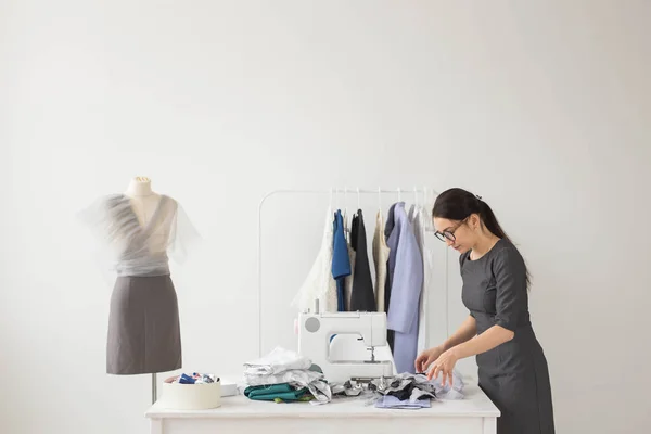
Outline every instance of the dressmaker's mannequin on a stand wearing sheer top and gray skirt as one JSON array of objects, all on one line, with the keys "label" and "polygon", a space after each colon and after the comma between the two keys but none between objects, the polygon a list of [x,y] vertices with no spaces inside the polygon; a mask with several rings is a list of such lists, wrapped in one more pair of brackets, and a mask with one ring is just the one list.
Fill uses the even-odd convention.
[{"label": "dressmaker's mannequin on a stand wearing sheer top and gray skirt", "polygon": [[177,201],[154,192],[144,177],[131,179],[125,193],[103,197],[87,216],[111,246],[112,268],[117,272],[111,295],[106,372],[153,374],[155,400],[155,374],[182,365],[168,253],[184,251],[197,234]]}]

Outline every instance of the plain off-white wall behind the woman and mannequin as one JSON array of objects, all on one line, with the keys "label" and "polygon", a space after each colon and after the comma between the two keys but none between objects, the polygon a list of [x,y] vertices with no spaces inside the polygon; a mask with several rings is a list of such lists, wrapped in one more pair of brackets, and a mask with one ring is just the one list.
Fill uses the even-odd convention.
[{"label": "plain off-white wall behind the woman and mannequin", "polygon": [[[267,191],[460,186],[532,268],[558,432],[648,431],[650,14],[642,0],[2,2],[0,431],[145,432],[149,379],[104,373],[111,288],[74,216],[135,175],[205,240],[174,270],[189,369],[257,354]],[[292,222],[317,241],[286,233],[278,257],[310,257],[320,221]]]}]

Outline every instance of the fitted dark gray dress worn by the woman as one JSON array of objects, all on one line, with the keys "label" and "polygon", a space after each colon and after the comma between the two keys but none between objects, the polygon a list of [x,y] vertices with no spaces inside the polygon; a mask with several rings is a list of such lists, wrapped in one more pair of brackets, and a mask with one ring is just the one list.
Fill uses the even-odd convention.
[{"label": "fitted dark gray dress worn by the woman", "polygon": [[514,337],[476,356],[480,387],[499,408],[498,434],[553,434],[547,359],[529,321],[524,259],[508,240],[484,256],[459,258],[462,301],[475,318],[477,334],[495,324]]}]

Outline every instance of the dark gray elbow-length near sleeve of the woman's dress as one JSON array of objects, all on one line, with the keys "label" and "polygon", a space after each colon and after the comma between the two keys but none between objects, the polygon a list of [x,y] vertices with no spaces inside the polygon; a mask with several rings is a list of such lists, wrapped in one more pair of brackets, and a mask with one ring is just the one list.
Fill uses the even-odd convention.
[{"label": "dark gray elbow-length near sleeve of the woman's dress", "polygon": [[526,311],[526,267],[514,248],[505,248],[493,263],[496,279],[496,324],[515,331],[521,316]]}]

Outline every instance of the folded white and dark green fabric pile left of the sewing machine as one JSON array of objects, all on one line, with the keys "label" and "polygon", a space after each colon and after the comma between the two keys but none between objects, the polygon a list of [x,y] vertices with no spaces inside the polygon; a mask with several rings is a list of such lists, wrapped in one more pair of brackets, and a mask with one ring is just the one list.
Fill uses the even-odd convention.
[{"label": "folded white and dark green fabric pile left of the sewing machine", "polygon": [[326,404],[332,398],[330,385],[311,360],[281,347],[244,363],[244,395],[255,400]]}]

